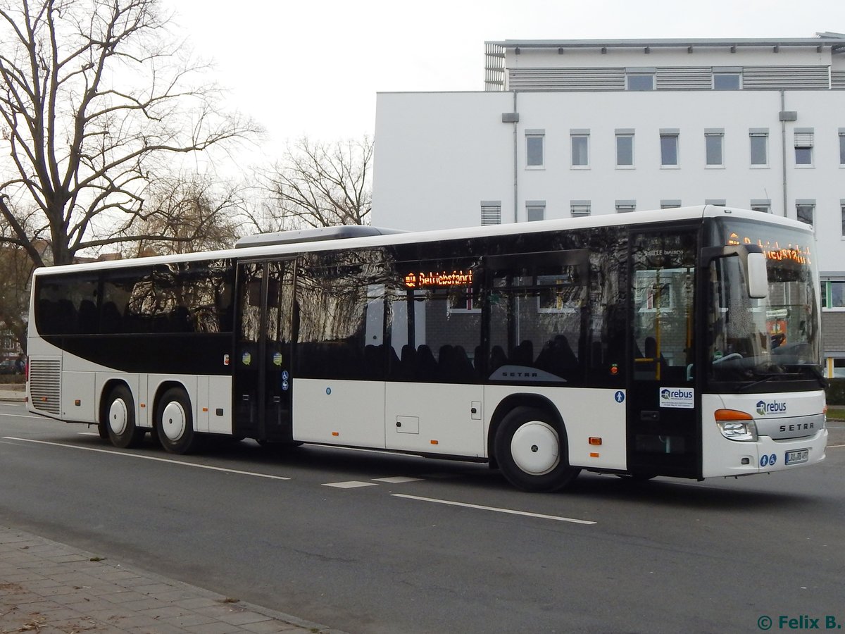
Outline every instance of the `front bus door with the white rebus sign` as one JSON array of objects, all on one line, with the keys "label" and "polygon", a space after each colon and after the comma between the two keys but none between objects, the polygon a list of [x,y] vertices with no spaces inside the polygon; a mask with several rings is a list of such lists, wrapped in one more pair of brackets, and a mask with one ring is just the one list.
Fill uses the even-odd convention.
[{"label": "front bus door with the white rebus sign", "polygon": [[695,393],[695,229],[630,239],[628,468],[642,475],[701,473]]}]

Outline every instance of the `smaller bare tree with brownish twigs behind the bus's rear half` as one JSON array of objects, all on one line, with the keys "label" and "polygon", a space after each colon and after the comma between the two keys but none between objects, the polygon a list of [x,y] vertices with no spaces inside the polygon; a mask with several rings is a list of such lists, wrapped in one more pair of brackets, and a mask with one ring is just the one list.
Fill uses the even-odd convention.
[{"label": "smaller bare tree with brownish twigs behind the bus's rear half", "polygon": [[[246,205],[237,183],[218,183],[210,176],[172,176],[150,184],[145,193],[149,213],[139,228],[153,238],[134,243],[134,253],[162,255],[231,248],[238,235],[238,216]],[[138,224],[138,223],[134,223]],[[124,227],[123,231],[132,227]]]}]

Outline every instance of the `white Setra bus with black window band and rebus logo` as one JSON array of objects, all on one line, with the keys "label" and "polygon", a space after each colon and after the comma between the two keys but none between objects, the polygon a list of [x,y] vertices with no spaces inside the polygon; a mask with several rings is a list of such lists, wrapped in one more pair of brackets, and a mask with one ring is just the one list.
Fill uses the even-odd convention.
[{"label": "white Setra bus with black window band and rebus logo", "polygon": [[42,268],[29,407],[117,447],[365,447],[532,491],[789,470],[827,439],[813,245],[698,206]]}]

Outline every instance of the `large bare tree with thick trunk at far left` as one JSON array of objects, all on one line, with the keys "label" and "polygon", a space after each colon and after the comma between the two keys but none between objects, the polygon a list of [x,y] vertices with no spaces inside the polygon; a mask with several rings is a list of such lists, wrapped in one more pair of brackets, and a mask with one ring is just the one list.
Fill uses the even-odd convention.
[{"label": "large bare tree with thick trunk at far left", "polygon": [[[258,130],[224,116],[207,66],[168,34],[157,0],[0,0],[0,166],[6,238],[44,264],[151,236],[143,192],[177,156]],[[35,205],[34,232],[16,209]],[[123,223],[113,235],[116,219]]]}]

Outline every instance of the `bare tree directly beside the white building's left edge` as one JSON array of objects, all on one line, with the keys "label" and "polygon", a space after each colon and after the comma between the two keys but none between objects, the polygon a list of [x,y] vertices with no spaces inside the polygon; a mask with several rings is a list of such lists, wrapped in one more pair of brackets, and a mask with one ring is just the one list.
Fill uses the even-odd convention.
[{"label": "bare tree directly beside the white building's left edge", "polygon": [[260,228],[367,224],[372,167],[373,140],[367,136],[334,144],[299,139],[287,146],[285,157],[266,178],[278,216],[275,227],[266,227],[265,221]]}]

